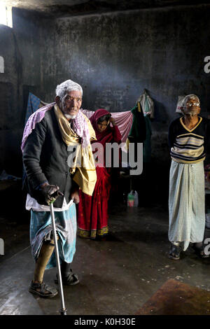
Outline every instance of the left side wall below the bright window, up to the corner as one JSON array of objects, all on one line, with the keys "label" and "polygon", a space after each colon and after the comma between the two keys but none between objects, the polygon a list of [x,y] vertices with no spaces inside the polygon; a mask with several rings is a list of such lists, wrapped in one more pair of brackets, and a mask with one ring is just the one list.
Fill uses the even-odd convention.
[{"label": "left side wall below the bright window, up to the corner", "polygon": [[22,175],[20,144],[27,94],[40,85],[38,19],[27,10],[13,9],[13,29],[0,25],[0,173]]}]

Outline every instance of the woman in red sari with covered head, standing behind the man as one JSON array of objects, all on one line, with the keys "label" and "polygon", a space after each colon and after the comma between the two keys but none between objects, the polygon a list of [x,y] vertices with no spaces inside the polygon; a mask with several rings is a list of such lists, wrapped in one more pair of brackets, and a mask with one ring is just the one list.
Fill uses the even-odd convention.
[{"label": "woman in red sari with covered head, standing behind the man", "polygon": [[[106,239],[108,234],[108,201],[111,189],[111,168],[105,167],[106,143],[118,143],[121,134],[111,118],[111,114],[105,109],[95,111],[90,118],[92,127],[96,133],[97,141],[104,148],[104,164],[96,160],[97,183],[92,197],[80,191],[78,204],[78,236],[90,239]],[[112,123],[113,127],[110,126]],[[96,149],[97,151],[97,149]],[[103,166],[103,167],[102,167]]]}]

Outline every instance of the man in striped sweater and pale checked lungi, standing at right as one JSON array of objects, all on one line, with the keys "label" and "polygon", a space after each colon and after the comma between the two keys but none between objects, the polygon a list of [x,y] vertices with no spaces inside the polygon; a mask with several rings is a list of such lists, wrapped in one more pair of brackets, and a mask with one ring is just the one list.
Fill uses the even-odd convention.
[{"label": "man in striped sweater and pale checked lungi, standing at right", "polygon": [[204,252],[205,192],[204,160],[209,147],[210,126],[200,114],[200,99],[195,94],[184,97],[183,116],[169,127],[172,158],[169,179],[169,258],[180,259],[190,242],[197,255]]}]

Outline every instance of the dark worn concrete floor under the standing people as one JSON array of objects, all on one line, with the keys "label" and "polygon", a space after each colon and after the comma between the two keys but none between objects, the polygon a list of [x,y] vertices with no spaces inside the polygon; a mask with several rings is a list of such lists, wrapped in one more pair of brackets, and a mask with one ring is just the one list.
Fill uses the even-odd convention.
[{"label": "dark worn concrete floor under the standing people", "polygon": [[[59,314],[59,295],[45,300],[28,292],[34,272],[29,224],[0,221],[5,228],[0,234],[5,237],[5,255],[0,255],[0,315]],[[108,241],[77,239],[72,268],[80,283],[64,287],[68,314],[135,314],[168,279],[210,291],[210,258],[197,258],[192,248],[179,261],[167,258],[166,207],[118,204],[111,208],[109,228]],[[54,285],[55,274],[56,269],[46,271],[45,282]]]}]

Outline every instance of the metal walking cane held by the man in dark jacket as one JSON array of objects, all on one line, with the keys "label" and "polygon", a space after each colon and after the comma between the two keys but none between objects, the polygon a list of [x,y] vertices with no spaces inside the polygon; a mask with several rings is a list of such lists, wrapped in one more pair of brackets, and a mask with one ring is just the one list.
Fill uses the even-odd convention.
[{"label": "metal walking cane held by the man in dark jacket", "polygon": [[53,233],[53,239],[55,241],[55,258],[56,258],[56,264],[57,264],[57,277],[58,277],[58,286],[59,286],[59,294],[61,298],[61,309],[60,309],[60,315],[67,315],[66,307],[64,304],[64,290],[62,286],[62,275],[60,271],[59,266],[59,252],[58,252],[58,246],[57,246],[57,234],[56,234],[56,228],[55,228],[55,216],[54,216],[54,209],[53,209],[53,202],[50,202],[50,214],[52,219],[52,233]]}]

